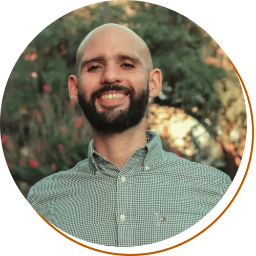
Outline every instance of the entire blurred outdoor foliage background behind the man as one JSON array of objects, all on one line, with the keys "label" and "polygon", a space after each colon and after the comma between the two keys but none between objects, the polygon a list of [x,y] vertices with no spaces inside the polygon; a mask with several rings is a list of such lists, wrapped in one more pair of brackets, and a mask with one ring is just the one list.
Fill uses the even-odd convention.
[{"label": "entire blurred outdoor foliage background behind the man", "polygon": [[151,50],[163,89],[151,99],[147,130],[165,151],[221,169],[233,180],[243,156],[246,109],[232,65],[204,30],[161,6],[110,1],[77,9],[41,31],[18,58],[1,109],[1,140],[11,175],[26,197],[42,178],[87,158],[90,125],[69,100],[68,77],[94,28],[131,28]]}]

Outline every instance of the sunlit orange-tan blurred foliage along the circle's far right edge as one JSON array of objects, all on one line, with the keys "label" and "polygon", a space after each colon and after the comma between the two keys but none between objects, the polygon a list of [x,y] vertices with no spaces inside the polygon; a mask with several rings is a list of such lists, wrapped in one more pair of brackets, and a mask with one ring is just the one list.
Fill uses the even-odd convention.
[{"label": "sunlit orange-tan blurred foliage along the circle's far right edge", "polygon": [[[246,107],[238,77],[227,71],[227,77],[216,84],[221,106],[216,113],[214,135],[223,152],[226,171],[231,179],[241,163],[246,140]],[[230,74],[231,73],[231,74]]]}]

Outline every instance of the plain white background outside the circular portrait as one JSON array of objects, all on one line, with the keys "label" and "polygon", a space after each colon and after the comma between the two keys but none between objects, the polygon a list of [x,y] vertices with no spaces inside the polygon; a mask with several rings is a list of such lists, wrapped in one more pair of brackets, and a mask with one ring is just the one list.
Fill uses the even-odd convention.
[{"label": "plain white background outside the circular portrait", "polygon": [[[256,54],[253,31],[256,24],[253,1],[155,0],[147,2],[158,3],[178,11],[209,33],[238,69],[249,93],[252,108],[255,110],[256,106],[253,97],[255,70],[253,67],[256,67],[254,63]],[[42,29],[60,16],[91,3],[93,3],[92,0],[67,2],[10,1],[1,3],[1,101],[11,70],[29,42]],[[94,1],[94,3],[96,2]],[[251,134],[249,129],[247,132],[249,138],[249,134]],[[247,141],[247,146],[249,142]],[[73,254],[103,255],[62,237],[42,221],[12,180],[4,160],[2,148],[0,153],[2,163],[0,172],[0,254],[28,256],[35,254],[62,256]],[[248,159],[248,153],[249,149],[246,150],[247,157],[244,157],[243,160]],[[253,211],[256,201],[254,185],[256,175],[253,171],[255,164],[255,159],[253,160],[252,157],[251,166],[240,193],[225,214],[213,226],[196,239],[170,251],[162,252],[161,255],[169,255],[170,253],[172,255],[186,255],[189,253],[197,256],[217,254],[256,255],[254,246],[256,216]],[[245,163],[244,166],[246,166]],[[245,167],[243,170],[239,170],[240,177],[243,176],[244,171]],[[235,191],[231,190],[229,194]],[[173,245],[173,243],[171,244]],[[169,246],[155,244],[150,250],[144,251],[156,251],[167,247]],[[104,249],[108,250],[106,247]],[[114,250],[109,248],[109,251]],[[127,249],[123,250],[123,253],[128,252],[130,251]]]}]

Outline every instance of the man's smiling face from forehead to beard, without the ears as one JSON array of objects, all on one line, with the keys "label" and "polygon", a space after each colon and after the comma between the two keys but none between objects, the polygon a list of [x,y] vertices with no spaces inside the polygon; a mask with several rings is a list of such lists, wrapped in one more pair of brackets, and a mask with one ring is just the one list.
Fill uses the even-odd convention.
[{"label": "man's smiling face from forehead to beard, without the ears", "polygon": [[127,34],[94,35],[82,53],[78,102],[92,127],[122,132],[137,125],[148,103],[148,71]]}]

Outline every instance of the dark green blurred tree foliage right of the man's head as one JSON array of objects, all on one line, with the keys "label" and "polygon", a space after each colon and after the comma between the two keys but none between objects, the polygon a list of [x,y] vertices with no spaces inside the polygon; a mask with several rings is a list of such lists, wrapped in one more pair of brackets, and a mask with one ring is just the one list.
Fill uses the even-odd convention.
[{"label": "dark green blurred tree foliage right of the man's head", "polygon": [[[203,123],[208,111],[218,109],[215,81],[225,76],[202,57],[210,37],[172,10],[142,2],[132,7],[137,12],[128,18],[130,28],[146,41],[154,66],[163,73],[163,91],[155,103],[181,108]],[[199,106],[196,115],[193,106]]]}]

